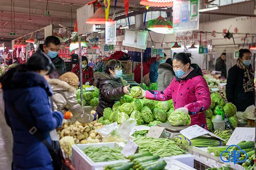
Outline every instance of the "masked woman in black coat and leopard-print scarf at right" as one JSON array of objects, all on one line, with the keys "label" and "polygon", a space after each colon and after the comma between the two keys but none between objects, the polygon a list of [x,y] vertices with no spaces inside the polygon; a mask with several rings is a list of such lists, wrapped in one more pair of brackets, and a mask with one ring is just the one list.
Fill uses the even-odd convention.
[{"label": "masked woman in black coat and leopard-print scarf at right", "polygon": [[255,104],[251,55],[248,49],[239,50],[239,59],[237,59],[236,65],[228,71],[227,101],[236,105],[237,111],[245,111],[248,106]]}]

